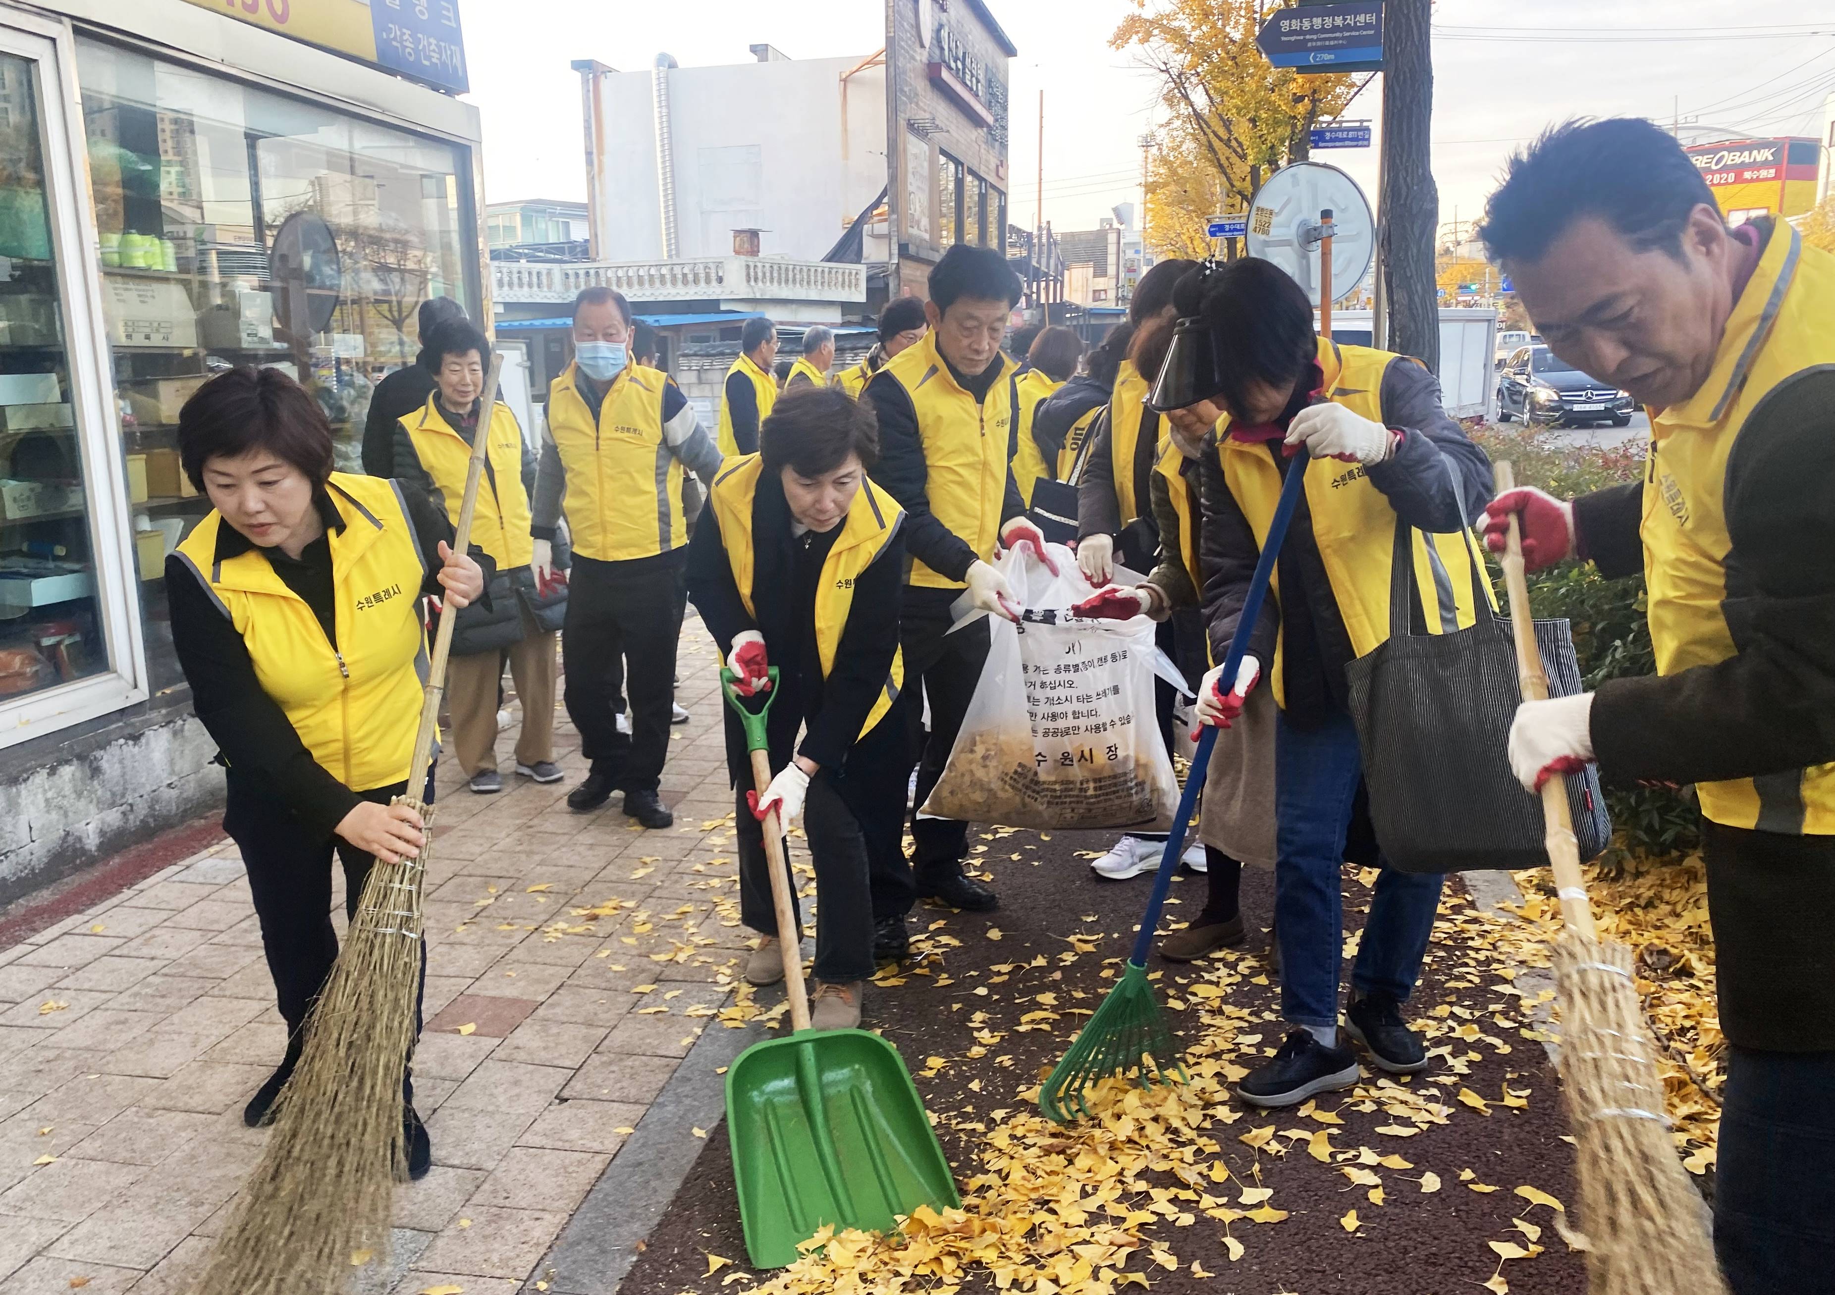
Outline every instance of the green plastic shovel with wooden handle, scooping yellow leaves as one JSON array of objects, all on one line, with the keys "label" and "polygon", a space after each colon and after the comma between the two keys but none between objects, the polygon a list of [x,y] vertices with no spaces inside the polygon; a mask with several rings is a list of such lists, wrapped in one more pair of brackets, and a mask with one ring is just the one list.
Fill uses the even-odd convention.
[{"label": "green plastic shovel with wooden handle, scooping yellow leaves", "polygon": [[[727,703],[740,712],[752,781],[763,796],[771,787],[765,715],[778,671],[771,670],[773,688],[756,712],[741,704],[730,670],[719,679]],[[864,1029],[809,1029],[802,941],[776,813],[763,831],[795,1033],[752,1044],[732,1062],[727,1137],[745,1249],[754,1267],[784,1267],[796,1262],[798,1242],[824,1223],[884,1233],[919,1205],[943,1209],[962,1198],[899,1049]]]}]

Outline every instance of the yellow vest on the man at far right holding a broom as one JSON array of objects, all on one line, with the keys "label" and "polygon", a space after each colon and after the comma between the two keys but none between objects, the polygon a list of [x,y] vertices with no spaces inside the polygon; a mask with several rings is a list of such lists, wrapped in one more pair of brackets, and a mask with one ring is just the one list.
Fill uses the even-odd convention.
[{"label": "yellow vest on the man at far right holding a broom", "polygon": [[[1679,405],[1652,409],[1644,477],[1644,580],[1657,673],[1712,666],[1738,648],[1727,629],[1727,457],[1752,409],[1802,369],[1835,363],[1835,257],[1782,220],[1734,303],[1714,369]],[[1804,554],[1828,561],[1829,554]],[[1701,813],[1727,827],[1835,835],[1835,765],[1696,783]]]}]

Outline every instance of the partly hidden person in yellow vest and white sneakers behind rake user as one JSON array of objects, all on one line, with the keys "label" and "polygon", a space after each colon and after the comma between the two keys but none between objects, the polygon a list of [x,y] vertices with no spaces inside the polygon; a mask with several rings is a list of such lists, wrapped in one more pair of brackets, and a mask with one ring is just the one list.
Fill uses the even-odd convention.
[{"label": "partly hidden person in yellow vest and white sneakers behind rake user", "polygon": [[[1173,288],[1198,268],[1196,260],[1162,260],[1134,290],[1129,304],[1129,352],[1116,365],[1114,393],[1107,416],[1099,418],[1090,435],[1095,444],[1084,459],[1077,482],[1077,565],[1084,578],[1101,589],[1116,570],[1116,554],[1132,570],[1152,570],[1160,552],[1160,534],[1152,512],[1152,473],[1165,448],[1165,427],[1158,411],[1147,405],[1147,389],[1156,372],[1141,371],[1141,345],[1156,327],[1173,325],[1178,308]],[[1187,644],[1178,640],[1184,622]],[[1180,613],[1160,624],[1156,642],[1174,662],[1195,660],[1202,625],[1189,613]],[[1200,666],[1202,670],[1202,666]],[[1178,690],[1165,679],[1154,679],[1154,721],[1167,748],[1173,747]],[[1123,833],[1114,846],[1090,862],[1103,880],[1129,880],[1160,866],[1165,833]],[[1180,862],[1195,873],[1206,869],[1204,846],[1193,842]]]}]

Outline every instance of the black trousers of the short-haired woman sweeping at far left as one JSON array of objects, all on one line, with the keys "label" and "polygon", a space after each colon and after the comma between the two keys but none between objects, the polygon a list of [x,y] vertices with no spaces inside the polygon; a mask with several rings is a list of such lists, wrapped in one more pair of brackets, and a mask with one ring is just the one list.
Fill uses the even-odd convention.
[{"label": "black trousers of the short-haired woman sweeping at far left", "polygon": [[[363,800],[387,805],[407,783],[360,792]],[[338,932],[332,928],[332,858],[345,873],[345,917],[354,917],[363,884],[376,862],[338,836],[301,831],[299,820],[270,796],[250,792],[235,772],[228,778],[224,831],[242,851],[248,888],[261,923],[261,948],[273,976],[275,1005],[286,1022],[288,1060],[299,1055],[301,1027],[325,989],[325,978],[338,961]],[[433,778],[428,778],[426,803],[433,803]],[[420,980],[426,987],[428,950],[420,945]],[[420,991],[415,992],[415,1033],[420,1033]],[[404,1080],[404,1095],[413,1088]]]}]

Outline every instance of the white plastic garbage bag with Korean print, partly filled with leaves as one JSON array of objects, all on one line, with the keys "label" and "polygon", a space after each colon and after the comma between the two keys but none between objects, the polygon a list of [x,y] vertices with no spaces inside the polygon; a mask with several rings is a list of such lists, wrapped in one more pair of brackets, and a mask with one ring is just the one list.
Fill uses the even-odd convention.
[{"label": "white plastic garbage bag with Korean print, partly filled with leaves", "polygon": [[989,618],[987,666],[919,813],[1007,827],[1165,831],[1178,781],[1152,681],[1184,681],[1154,646],[1147,616],[1070,616],[1095,591],[1068,548],[1050,548],[1057,576],[1024,548],[995,561],[1026,611],[1017,625]]}]

